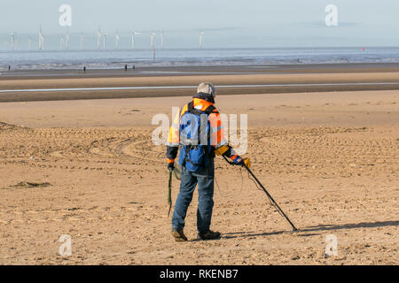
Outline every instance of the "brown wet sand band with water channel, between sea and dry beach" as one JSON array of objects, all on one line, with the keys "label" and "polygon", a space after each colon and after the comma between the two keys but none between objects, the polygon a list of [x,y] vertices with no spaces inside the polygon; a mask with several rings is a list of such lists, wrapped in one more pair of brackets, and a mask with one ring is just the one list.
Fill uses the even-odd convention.
[{"label": "brown wet sand band with water channel, between sea and dry beach", "polygon": [[399,90],[399,64],[14,71],[0,75],[0,102],[188,96],[204,80],[219,95]]}]

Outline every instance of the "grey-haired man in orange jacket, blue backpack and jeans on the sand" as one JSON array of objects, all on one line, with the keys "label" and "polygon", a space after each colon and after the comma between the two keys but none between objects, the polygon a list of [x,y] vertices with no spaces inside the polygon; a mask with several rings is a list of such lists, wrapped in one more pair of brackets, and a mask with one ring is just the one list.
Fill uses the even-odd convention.
[{"label": "grey-haired man in orange jacket, blue backpack and jeans on the sand", "polygon": [[[215,155],[230,157],[235,164],[250,166],[249,158],[244,160],[239,157],[224,138],[222,120],[215,108],[215,87],[211,83],[203,82],[200,83],[197,92],[192,97],[192,101],[185,104],[183,109],[176,114],[168,134],[168,170],[175,169],[175,159],[180,146],[181,183],[172,217],[172,235],[176,241],[187,241],[187,237],[184,235],[184,218],[192,202],[192,195],[197,184],[199,193],[198,238],[200,240],[213,240],[221,236],[221,233],[210,230],[214,206]],[[193,118],[187,120],[190,115],[197,115],[201,119],[204,116],[207,117],[209,132],[207,132],[206,145],[202,145],[200,142],[194,144],[192,143],[193,140],[190,140],[191,142],[183,141],[183,137],[187,137],[186,126],[191,127],[189,120]],[[202,120],[200,124],[204,125]],[[203,131],[203,127],[200,128],[200,131]],[[200,138],[198,135],[196,135],[197,139]]]}]

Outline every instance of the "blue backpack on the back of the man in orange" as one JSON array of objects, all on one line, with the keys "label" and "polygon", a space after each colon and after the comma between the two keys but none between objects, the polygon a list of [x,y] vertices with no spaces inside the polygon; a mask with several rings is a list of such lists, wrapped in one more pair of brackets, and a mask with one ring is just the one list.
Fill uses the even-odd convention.
[{"label": "blue backpack on the back of the man in orange", "polygon": [[195,109],[192,102],[187,106],[179,126],[179,164],[188,172],[200,172],[207,168],[210,158],[214,157],[214,150],[210,145],[208,116],[215,111],[215,106],[210,105],[205,111]]}]

